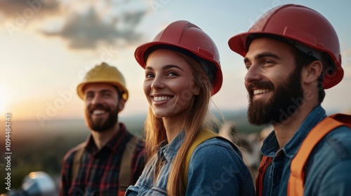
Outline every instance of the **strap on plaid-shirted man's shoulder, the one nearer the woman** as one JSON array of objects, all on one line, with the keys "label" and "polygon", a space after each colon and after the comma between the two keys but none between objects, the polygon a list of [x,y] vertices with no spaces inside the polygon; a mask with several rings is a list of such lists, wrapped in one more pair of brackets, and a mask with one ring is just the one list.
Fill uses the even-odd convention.
[{"label": "strap on plaid-shirted man's shoulder, the one nearer the woman", "polygon": [[126,144],[126,148],[124,148],[121,160],[121,168],[119,169],[119,192],[126,192],[128,186],[131,185],[131,176],[133,176],[131,164],[138,141],[139,139],[133,136]]}]

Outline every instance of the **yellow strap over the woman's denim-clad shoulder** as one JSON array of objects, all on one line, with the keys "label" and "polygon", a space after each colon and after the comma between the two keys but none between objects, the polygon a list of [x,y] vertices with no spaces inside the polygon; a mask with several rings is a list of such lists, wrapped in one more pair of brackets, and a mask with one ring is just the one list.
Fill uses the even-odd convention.
[{"label": "yellow strap over the woman's denim-clad shoulder", "polygon": [[[201,130],[199,132],[199,134],[197,135],[197,137],[194,139],[194,141],[192,142],[189,150],[187,151],[186,157],[185,157],[185,167],[184,167],[184,172],[183,172],[183,186],[186,188],[187,187],[187,169],[189,168],[189,162],[190,162],[190,158],[192,157],[192,152],[194,151],[194,149],[199,146],[199,144],[203,143],[204,141],[208,140],[208,139],[212,139],[212,138],[220,138],[220,139],[225,139],[224,137],[221,137],[220,135],[211,132],[210,130]],[[227,139],[225,139],[225,141],[229,141]],[[235,144],[233,144],[231,141],[229,141],[230,144],[233,146],[234,150],[238,150],[237,146],[235,146]]]}]

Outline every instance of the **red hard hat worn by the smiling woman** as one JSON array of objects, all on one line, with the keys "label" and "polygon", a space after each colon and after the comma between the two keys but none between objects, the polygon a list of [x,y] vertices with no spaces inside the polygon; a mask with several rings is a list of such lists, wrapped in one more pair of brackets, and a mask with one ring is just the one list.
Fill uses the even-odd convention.
[{"label": "red hard hat worn by the smiling woman", "polygon": [[191,55],[211,62],[217,69],[213,80],[212,95],[220,90],[223,82],[222,70],[220,69],[220,55],[216,44],[202,29],[185,20],[172,22],[159,32],[153,41],[139,45],[136,48],[134,56],[140,66],[145,69],[147,57],[150,55],[150,51],[147,50],[161,45],[169,46],[173,49],[180,48],[180,51],[185,50]]}]

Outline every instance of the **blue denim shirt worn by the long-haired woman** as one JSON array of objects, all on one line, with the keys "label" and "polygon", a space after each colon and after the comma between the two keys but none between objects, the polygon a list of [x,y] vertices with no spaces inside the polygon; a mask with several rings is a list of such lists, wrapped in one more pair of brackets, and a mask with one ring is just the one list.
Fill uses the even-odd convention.
[{"label": "blue denim shirt worn by the long-haired woman", "polygon": [[[181,132],[170,144],[160,149],[146,165],[135,186],[128,187],[126,195],[167,195],[172,160],[183,144],[184,136],[185,133]],[[153,183],[154,165],[158,159],[164,165]],[[249,169],[239,153],[227,141],[213,138],[199,144],[192,153],[185,195],[255,195],[255,189]]]}]

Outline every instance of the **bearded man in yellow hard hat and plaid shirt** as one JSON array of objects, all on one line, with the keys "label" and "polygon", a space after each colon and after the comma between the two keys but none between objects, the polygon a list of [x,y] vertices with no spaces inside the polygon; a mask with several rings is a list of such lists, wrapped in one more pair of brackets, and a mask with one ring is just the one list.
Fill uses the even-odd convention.
[{"label": "bearded man in yellow hard hat and plaid shirt", "polygon": [[118,121],[128,99],[121,72],[104,62],[86,73],[77,87],[91,134],[63,159],[60,195],[124,195],[138,180],[144,143]]}]

